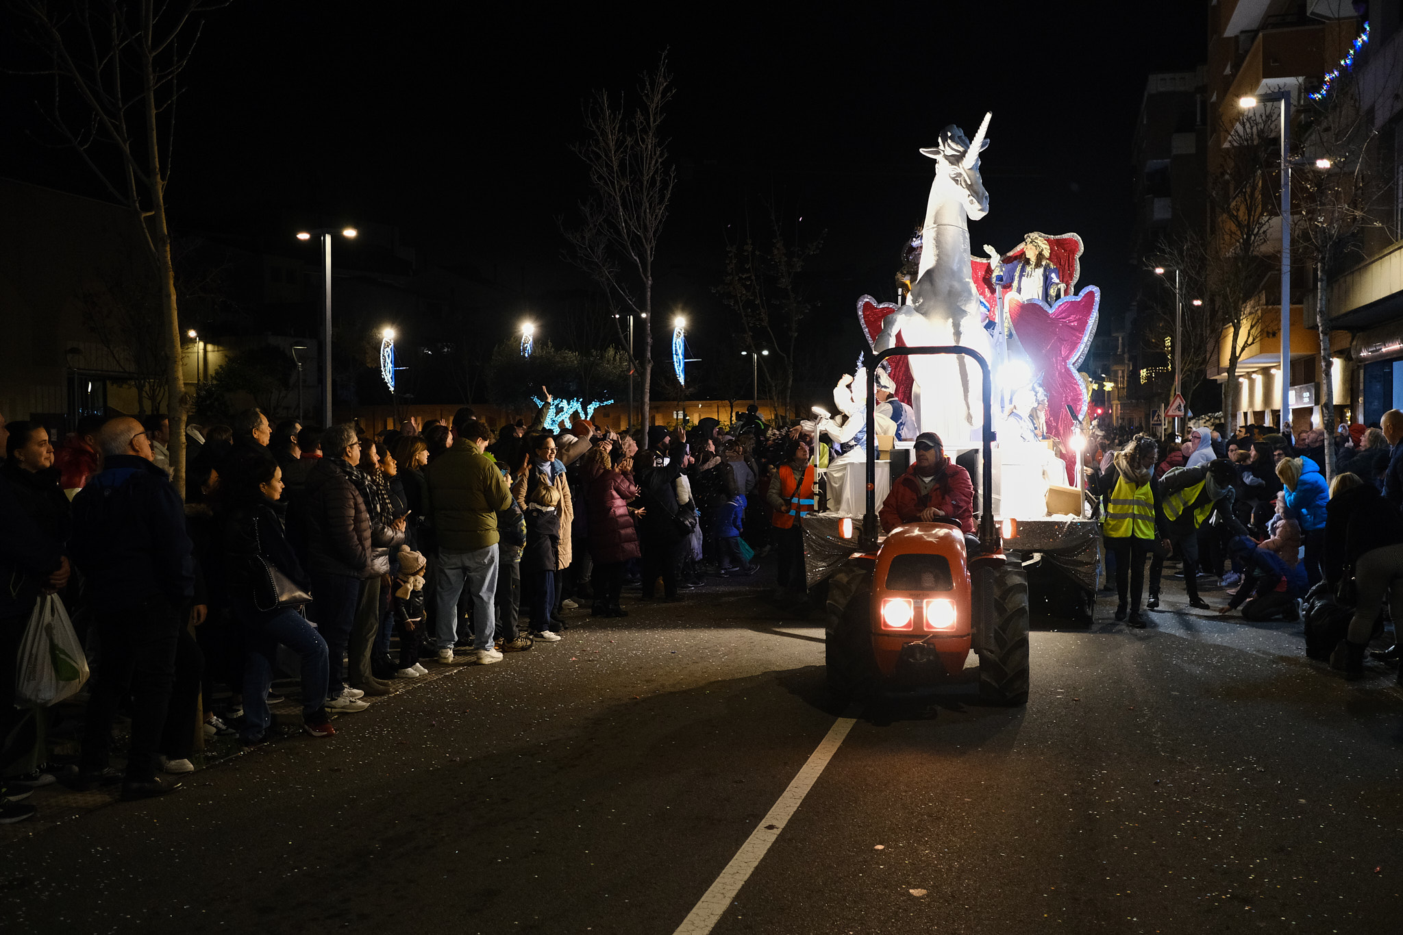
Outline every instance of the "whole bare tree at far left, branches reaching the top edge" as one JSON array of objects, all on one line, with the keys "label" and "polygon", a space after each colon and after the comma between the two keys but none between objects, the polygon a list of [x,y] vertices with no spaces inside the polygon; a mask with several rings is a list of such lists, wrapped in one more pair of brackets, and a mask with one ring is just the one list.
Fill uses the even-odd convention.
[{"label": "whole bare tree at far left, branches reaching the top edge", "polygon": [[125,206],[140,230],[159,282],[160,343],[166,348],[171,481],[185,489],[185,374],[166,185],[178,98],[203,14],[229,0],[14,0],[25,38],[42,63],[29,73],[52,80],[41,105]]}]

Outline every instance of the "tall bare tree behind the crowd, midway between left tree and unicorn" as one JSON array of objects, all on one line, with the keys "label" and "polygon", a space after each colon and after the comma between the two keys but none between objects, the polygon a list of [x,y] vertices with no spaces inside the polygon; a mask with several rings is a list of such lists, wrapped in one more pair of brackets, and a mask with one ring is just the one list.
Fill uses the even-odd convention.
[{"label": "tall bare tree behind the crowd, midway between left tree and unicorn", "polygon": [[[631,116],[624,116],[622,95],[615,108],[607,91],[595,94],[585,107],[586,139],[574,147],[589,170],[593,193],[579,205],[579,227],[561,224],[570,243],[567,259],[603,290],[610,311],[641,317],[644,425],[652,400],[652,266],[676,182],[662,137],[664,109],[671,100],[666,53],[655,71],[643,76]],[[613,321],[619,343],[624,345],[623,318]],[[638,369],[631,353],[630,348],[630,364]]]}]

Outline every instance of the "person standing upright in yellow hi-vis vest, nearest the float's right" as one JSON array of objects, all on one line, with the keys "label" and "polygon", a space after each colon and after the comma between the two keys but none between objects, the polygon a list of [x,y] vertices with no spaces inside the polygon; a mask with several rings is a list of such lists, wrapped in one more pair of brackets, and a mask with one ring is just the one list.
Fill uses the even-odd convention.
[{"label": "person standing upright in yellow hi-vis vest, nearest the float's right", "polygon": [[1159,489],[1153,482],[1155,439],[1136,436],[1115,453],[1111,467],[1096,484],[1094,493],[1106,498],[1101,534],[1106,551],[1115,555],[1115,620],[1127,615],[1131,627],[1143,627],[1139,615],[1141,592],[1145,590],[1145,557],[1169,551],[1169,541],[1159,527]]}]

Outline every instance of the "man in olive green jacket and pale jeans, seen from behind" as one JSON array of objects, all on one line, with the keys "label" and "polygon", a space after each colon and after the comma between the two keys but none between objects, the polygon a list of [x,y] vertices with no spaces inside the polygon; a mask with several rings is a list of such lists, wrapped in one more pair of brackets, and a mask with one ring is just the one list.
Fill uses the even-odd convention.
[{"label": "man in olive green jacket and pale jeans, seen from behind", "polygon": [[501,662],[492,648],[497,600],[497,513],[512,503],[506,479],[483,454],[492,435],[481,422],[453,416],[453,447],[424,468],[428,481],[429,524],[438,540],[434,573],[434,639],[438,660],[469,662],[453,656],[457,638],[457,599],[463,585],[473,594],[473,648],[478,664]]}]

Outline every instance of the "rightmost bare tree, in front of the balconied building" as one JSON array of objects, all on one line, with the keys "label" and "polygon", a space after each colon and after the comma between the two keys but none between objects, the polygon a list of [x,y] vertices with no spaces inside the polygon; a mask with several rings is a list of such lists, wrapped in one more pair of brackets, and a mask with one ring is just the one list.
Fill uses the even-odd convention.
[{"label": "rightmost bare tree, in front of the balconied building", "polygon": [[1376,133],[1361,107],[1360,84],[1341,74],[1329,93],[1306,98],[1301,143],[1305,165],[1292,178],[1299,206],[1291,236],[1305,258],[1315,264],[1316,331],[1320,335],[1320,425],[1326,432],[1326,478],[1334,477],[1334,356],[1330,353],[1329,275],[1344,255],[1357,248],[1355,234],[1378,226],[1371,209],[1382,188],[1376,184]]}]

